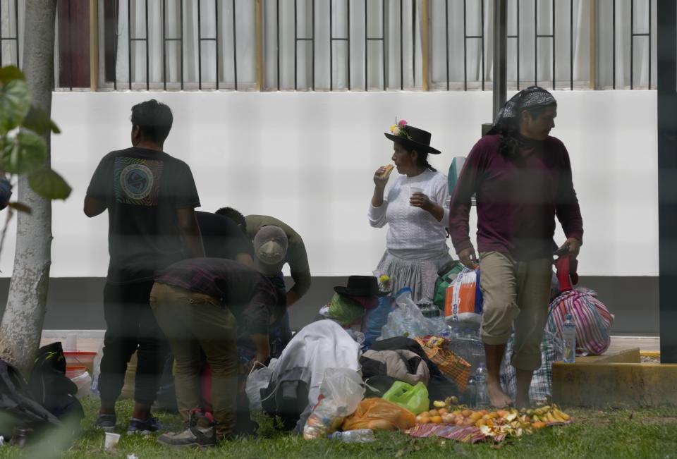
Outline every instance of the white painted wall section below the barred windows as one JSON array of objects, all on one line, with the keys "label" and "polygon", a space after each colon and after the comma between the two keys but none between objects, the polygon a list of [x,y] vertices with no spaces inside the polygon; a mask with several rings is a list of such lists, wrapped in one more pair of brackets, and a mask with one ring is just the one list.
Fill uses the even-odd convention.
[{"label": "white painted wall section below the barred windows", "polygon": [[[656,276],[656,92],[555,95],[553,134],[571,155],[585,224],[580,274]],[[316,276],[368,274],[382,255],[385,229],[370,228],[366,212],[395,116],[433,133],[443,154],[431,162],[446,173],[491,121],[492,104],[490,92],[56,92],[63,133],[52,137],[53,163],[73,194],[54,203],[52,276],[105,276],[107,218],[85,217],[85,190],[99,159],[129,145],[130,107],[151,97],[173,110],[165,149],[190,164],[202,209],[286,221],[303,235]],[[11,275],[14,238],[12,230],[2,276]]]}]

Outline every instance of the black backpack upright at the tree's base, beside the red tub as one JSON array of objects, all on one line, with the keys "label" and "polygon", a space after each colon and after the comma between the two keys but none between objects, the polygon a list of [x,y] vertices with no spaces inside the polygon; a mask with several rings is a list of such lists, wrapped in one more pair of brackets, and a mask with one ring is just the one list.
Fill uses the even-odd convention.
[{"label": "black backpack upright at the tree's base, beside the red tub", "polygon": [[33,400],[59,419],[72,415],[79,421],[85,417],[83,405],[75,398],[78,386],[66,377],[66,357],[60,341],[37,350],[28,389]]}]

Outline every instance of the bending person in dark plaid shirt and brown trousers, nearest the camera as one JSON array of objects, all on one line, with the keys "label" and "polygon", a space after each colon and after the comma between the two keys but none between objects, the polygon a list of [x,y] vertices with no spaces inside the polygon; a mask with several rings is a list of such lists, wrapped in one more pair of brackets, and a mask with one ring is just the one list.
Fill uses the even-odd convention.
[{"label": "bending person in dark plaid shirt and brown trousers, nearest the camera", "polygon": [[[238,324],[255,344],[245,371],[270,356],[269,325],[286,310],[284,291],[255,269],[223,258],[194,258],[159,272],[150,295],[157,322],[176,359],[176,399],[187,428],[164,434],[171,446],[214,446],[236,429],[240,365]],[[212,371],[214,429],[196,425],[200,409],[200,350]]]}]

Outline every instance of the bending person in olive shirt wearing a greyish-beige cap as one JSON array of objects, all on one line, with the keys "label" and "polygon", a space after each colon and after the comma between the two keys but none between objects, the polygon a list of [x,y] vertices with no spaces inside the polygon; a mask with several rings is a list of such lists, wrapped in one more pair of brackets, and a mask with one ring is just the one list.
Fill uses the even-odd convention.
[{"label": "bending person in olive shirt wearing a greyish-beige cap", "polygon": [[[294,285],[287,291],[287,307],[307,293],[311,276],[308,255],[300,235],[288,224],[268,215],[243,216],[232,207],[223,207],[216,214],[227,216],[238,224],[252,241],[257,269],[268,276],[273,283],[286,288],[282,267],[289,264]],[[282,349],[291,340],[289,314],[281,317],[279,324],[272,327],[272,356],[279,357]]]}]

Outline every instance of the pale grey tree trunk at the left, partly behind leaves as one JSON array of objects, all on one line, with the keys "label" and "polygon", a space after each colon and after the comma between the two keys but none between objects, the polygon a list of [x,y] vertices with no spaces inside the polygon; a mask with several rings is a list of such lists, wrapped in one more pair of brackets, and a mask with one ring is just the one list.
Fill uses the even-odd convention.
[{"label": "pale grey tree trunk at the left, partly behind leaves", "polygon": [[[54,79],[54,25],[56,0],[26,0],[23,72],[33,95],[33,104],[51,113],[51,87]],[[49,131],[47,164],[51,163]],[[28,375],[39,347],[47,303],[51,264],[51,201],[39,197],[28,186],[28,178],[18,180],[18,200],[31,214],[18,213],[14,271],[9,296],[0,324],[0,357]]]}]

